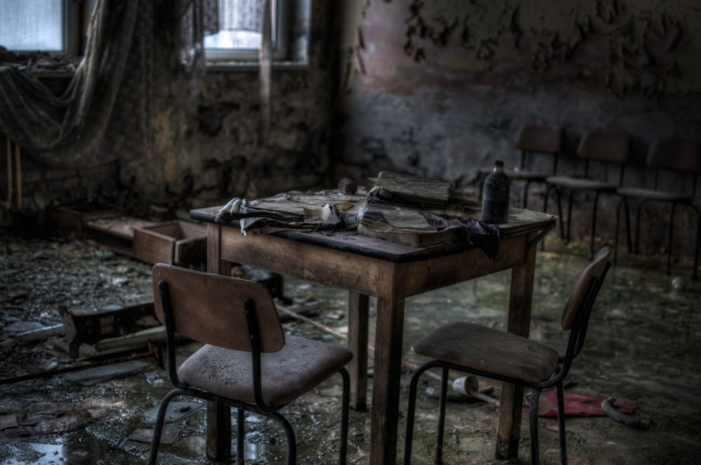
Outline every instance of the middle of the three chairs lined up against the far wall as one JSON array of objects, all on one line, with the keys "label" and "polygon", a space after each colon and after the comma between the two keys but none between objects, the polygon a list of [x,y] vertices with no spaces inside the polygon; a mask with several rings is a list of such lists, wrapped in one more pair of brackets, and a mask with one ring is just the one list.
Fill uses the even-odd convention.
[{"label": "middle of the three chairs lined up against the far wall", "polygon": [[[552,190],[557,197],[557,214],[560,217],[560,236],[563,240],[570,239],[572,225],[573,197],[578,192],[594,193],[592,202],[592,226],[590,230],[589,258],[594,255],[594,235],[597,230],[597,209],[599,195],[603,193],[615,195],[623,182],[625,164],[630,158],[630,137],[628,134],[607,130],[592,130],[583,134],[577,147],[577,155],[584,160],[584,175],[579,176],[548,176],[545,179],[547,189],[545,197]],[[602,168],[613,166],[618,169],[618,181],[594,179],[590,177],[590,163],[599,162]],[[567,200],[567,231],[564,230],[562,216],[562,194],[569,191]]]}]

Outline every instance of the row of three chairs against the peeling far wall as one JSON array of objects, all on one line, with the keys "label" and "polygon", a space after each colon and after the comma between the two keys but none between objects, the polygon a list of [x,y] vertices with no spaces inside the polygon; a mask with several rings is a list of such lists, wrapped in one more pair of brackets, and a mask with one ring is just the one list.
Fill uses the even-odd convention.
[{"label": "row of three chairs against the peeling far wall", "polygon": [[[611,130],[590,130],[583,134],[577,147],[578,158],[583,160],[583,173],[572,176],[557,174],[557,161],[562,153],[564,130],[559,126],[524,125],[519,129],[515,146],[521,151],[519,169],[508,171],[508,176],[515,181],[524,182],[522,206],[528,206],[529,188],[533,183],[545,186],[543,211],[547,211],[547,201],[551,193],[557,200],[557,214],[560,217],[560,236],[563,240],[571,238],[571,218],[575,195],[593,194],[592,217],[590,228],[589,258],[594,254],[594,236],[597,228],[599,197],[614,195],[618,197],[613,225],[613,263],[618,252],[618,231],[621,209],[625,211],[627,247],[630,252],[639,254],[641,214],[646,204],[658,203],[669,206],[667,224],[667,274],[672,268],[672,250],[674,237],[674,214],[677,207],[688,207],[696,217],[695,255],[693,277],[697,277],[699,257],[699,240],[701,238],[701,213],[695,204],[697,174],[701,172],[700,141],[684,139],[661,139],[655,141],[647,154],[646,167],[653,174],[653,182],[646,187],[627,187],[624,185],[626,166],[631,155],[631,138],[625,132]],[[532,169],[539,160],[541,166],[549,169]],[[542,158],[549,159],[543,164]],[[592,176],[592,163],[598,163],[600,172],[615,172],[615,176]],[[679,190],[661,188],[661,176],[676,176]],[[610,180],[611,179],[611,180]],[[686,188],[682,190],[681,188]],[[567,196],[567,215],[562,214],[562,197]],[[637,200],[635,216],[634,247],[631,240],[629,201]]]}]

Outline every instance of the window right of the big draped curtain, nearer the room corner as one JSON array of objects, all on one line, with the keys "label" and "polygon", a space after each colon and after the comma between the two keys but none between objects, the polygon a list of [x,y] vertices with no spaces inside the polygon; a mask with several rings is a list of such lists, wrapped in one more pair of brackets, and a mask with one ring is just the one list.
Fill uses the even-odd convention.
[{"label": "window right of the big draped curtain, nearer the room corner", "polygon": [[[212,0],[210,0],[212,1]],[[205,57],[217,62],[257,62],[262,39],[263,0],[214,0],[205,13],[215,32],[205,34]],[[308,0],[271,0],[273,60],[299,60],[299,43],[290,46],[292,22],[308,19]],[[303,53],[306,55],[306,53]]]}]

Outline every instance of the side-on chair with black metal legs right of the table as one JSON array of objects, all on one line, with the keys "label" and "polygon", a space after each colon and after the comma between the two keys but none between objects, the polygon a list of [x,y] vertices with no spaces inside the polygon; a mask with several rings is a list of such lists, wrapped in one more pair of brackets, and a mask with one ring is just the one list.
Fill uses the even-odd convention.
[{"label": "side-on chair with black metal legs right of the table", "polygon": [[442,463],[443,428],[449,370],[472,373],[503,382],[531,387],[529,426],[531,432],[531,463],[538,464],[538,400],[540,391],[557,390],[557,421],[559,426],[560,460],[567,461],[564,425],[564,393],[562,382],[569,373],[573,359],[582,349],[594,300],[611,267],[608,247],[601,249],[585,268],[562,313],[562,331],[570,331],[564,356],[547,345],[519,335],[467,322],[452,322],[434,329],[414,344],[417,354],[432,360],[419,366],[409,385],[407,433],[404,440],[404,464],[411,462],[411,442],[414,435],[414,409],[418,379],[430,368],[442,368],[435,463]]}]

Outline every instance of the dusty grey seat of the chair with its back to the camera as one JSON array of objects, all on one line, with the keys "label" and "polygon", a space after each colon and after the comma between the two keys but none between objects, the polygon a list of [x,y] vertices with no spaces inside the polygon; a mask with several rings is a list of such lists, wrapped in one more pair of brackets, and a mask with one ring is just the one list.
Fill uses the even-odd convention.
[{"label": "dusty grey seat of the chair with its back to the camera", "polygon": [[[353,352],[337,345],[285,336],[278,352],[261,354],[263,400],[281,407],[346,366]],[[178,368],[184,384],[226,398],[255,403],[250,352],[204,345]],[[227,369],[229,368],[229,369]]]}]

